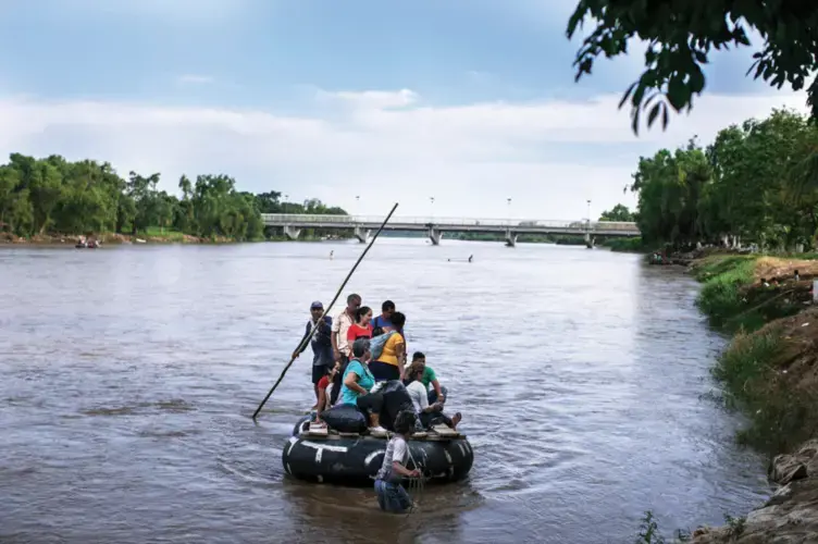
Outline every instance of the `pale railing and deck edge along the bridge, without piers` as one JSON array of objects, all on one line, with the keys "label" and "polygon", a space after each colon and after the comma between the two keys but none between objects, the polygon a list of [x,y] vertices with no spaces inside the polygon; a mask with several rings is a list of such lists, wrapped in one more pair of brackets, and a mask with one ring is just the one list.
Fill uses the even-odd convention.
[{"label": "pale railing and deck edge along the bridge, without piers", "polygon": [[[356,225],[375,225],[383,222],[382,215],[319,215],[309,213],[262,213],[261,219],[267,224],[281,225],[345,225],[350,227]],[[543,227],[543,228],[570,228],[592,231],[617,231],[617,232],[639,232],[636,223],[615,222],[615,221],[550,221],[550,220],[520,220],[520,219],[469,219],[469,218],[446,218],[446,217],[410,217],[410,218],[392,218],[389,224],[395,227],[399,225],[426,225],[433,224],[442,227],[457,226],[489,226],[489,227]]]}]

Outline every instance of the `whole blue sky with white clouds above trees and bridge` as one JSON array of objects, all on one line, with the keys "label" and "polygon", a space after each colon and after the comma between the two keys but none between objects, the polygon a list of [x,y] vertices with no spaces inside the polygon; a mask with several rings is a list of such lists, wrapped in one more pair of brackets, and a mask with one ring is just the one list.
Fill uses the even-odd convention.
[{"label": "whole blue sky with white clouds above trees and bridge", "polygon": [[363,215],[578,220],[634,206],[640,156],[806,111],[745,77],[744,48],[711,58],[690,114],[635,136],[617,104],[640,46],[574,83],[575,3],[0,0],[0,153],[159,172],[174,193],[224,173]]}]

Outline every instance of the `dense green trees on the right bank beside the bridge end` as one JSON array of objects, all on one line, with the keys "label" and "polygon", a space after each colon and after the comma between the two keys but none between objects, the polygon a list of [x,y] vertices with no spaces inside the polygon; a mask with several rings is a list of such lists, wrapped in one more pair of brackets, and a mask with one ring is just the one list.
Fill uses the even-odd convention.
[{"label": "dense green trees on the right bank beside the bridge end", "polygon": [[818,230],[818,127],[773,110],[720,131],[702,146],[641,157],[630,189],[646,243],[753,243],[814,248]]}]

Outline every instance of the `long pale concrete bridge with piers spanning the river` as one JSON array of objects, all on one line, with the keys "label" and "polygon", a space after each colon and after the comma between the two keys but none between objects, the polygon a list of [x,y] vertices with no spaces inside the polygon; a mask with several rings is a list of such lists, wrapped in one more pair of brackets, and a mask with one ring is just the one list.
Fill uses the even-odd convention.
[{"label": "long pale concrete bridge with piers spanning the river", "polygon": [[[310,215],[299,213],[262,213],[267,226],[277,226],[289,239],[297,239],[302,228],[347,230],[365,243],[376,231],[383,217],[374,215]],[[609,221],[542,221],[512,219],[462,219],[462,218],[392,218],[385,231],[425,232],[435,246],[444,233],[498,233],[505,236],[506,245],[515,247],[520,234],[568,234],[584,236],[585,243],[594,244],[596,236],[639,236],[636,223]]]}]

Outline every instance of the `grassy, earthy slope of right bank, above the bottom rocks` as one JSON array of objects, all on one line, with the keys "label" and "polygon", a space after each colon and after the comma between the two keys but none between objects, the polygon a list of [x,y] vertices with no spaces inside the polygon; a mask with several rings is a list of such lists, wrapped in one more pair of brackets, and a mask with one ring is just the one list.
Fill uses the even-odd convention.
[{"label": "grassy, earthy slope of right bank, above the bottom rocks", "polygon": [[740,442],[778,455],[815,436],[818,310],[805,302],[811,300],[818,262],[711,256],[692,272],[704,283],[701,310],[714,326],[734,333],[712,375],[722,385],[726,406],[747,416]]}]

